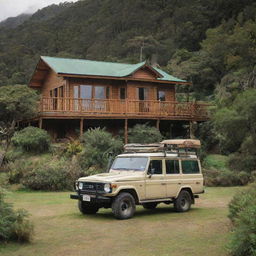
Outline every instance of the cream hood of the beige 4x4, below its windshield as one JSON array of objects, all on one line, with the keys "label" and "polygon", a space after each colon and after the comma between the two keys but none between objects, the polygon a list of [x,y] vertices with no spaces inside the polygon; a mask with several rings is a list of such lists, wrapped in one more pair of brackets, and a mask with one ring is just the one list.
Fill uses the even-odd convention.
[{"label": "cream hood of the beige 4x4, below its windshield", "polygon": [[136,171],[111,171],[108,173],[100,173],[88,177],[82,177],[79,181],[88,182],[124,182],[142,180],[144,172]]}]

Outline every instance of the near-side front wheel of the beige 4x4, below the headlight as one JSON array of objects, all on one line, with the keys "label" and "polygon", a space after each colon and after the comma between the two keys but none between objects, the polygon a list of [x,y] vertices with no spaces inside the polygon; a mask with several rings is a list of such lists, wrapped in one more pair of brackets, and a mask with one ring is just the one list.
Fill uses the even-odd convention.
[{"label": "near-side front wheel of the beige 4x4, below the headlight", "polygon": [[120,193],[112,203],[112,212],[119,220],[132,218],[136,209],[135,200],[130,193]]}]

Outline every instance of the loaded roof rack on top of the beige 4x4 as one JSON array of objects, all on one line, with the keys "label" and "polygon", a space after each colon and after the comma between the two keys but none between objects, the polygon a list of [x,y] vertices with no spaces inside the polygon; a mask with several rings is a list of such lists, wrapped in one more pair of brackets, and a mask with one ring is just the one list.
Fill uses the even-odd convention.
[{"label": "loaded roof rack on top of the beige 4x4", "polygon": [[176,153],[178,156],[197,155],[201,147],[199,140],[177,139],[163,140],[160,143],[153,144],[126,144],[124,153]]}]

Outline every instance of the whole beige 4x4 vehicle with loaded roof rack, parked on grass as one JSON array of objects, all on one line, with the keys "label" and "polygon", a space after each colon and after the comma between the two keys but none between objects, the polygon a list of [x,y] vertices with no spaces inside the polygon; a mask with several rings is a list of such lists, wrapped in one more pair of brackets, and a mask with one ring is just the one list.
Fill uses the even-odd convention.
[{"label": "whole beige 4x4 vehicle with loaded roof rack, parked on grass", "polygon": [[83,214],[112,208],[117,219],[131,218],[136,205],[154,209],[173,203],[176,211],[186,212],[204,192],[199,147],[198,140],[127,144],[108,173],[79,178],[70,198],[78,199]]}]

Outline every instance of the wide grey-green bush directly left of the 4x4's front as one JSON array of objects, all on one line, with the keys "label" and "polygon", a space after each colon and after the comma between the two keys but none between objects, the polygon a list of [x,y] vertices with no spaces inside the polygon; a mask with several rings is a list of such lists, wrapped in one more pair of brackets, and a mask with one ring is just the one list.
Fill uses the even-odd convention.
[{"label": "wide grey-green bush directly left of the 4x4's front", "polygon": [[33,190],[60,191],[71,190],[74,181],[82,175],[76,159],[67,161],[64,158],[50,162],[38,162],[35,168],[26,172],[22,184]]}]

